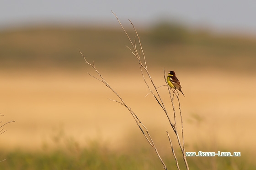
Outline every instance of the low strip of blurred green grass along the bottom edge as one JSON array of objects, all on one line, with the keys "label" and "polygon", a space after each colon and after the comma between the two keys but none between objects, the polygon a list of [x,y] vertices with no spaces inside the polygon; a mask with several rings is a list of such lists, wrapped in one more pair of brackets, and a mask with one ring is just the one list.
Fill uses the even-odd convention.
[{"label": "low strip of blurred green grass along the bottom edge", "polygon": [[[2,149],[1,149],[2,150]],[[1,170],[159,170],[163,166],[152,148],[128,148],[113,151],[107,145],[91,142],[86,148],[56,149],[55,151],[0,151]],[[202,148],[199,150],[203,150]],[[224,152],[224,151],[222,151]],[[181,155],[178,155],[178,159]],[[168,169],[176,170],[171,149],[162,155]],[[190,170],[255,170],[256,164],[243,154],[241,157],[187,157]],[[182,159],[179,166],[185,169]]]}]

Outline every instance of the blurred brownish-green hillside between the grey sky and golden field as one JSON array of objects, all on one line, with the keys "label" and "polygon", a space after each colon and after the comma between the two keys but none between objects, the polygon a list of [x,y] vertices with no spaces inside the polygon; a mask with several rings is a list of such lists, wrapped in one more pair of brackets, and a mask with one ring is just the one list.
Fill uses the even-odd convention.
[{"label": "blurred brownish-green hillside between the grey sky and golden field", "polygon": [[[131,27],[126,26],[132,41]],[[138,30],[150,67],[251,71],[256,65],[256,38],[192,30],[176,23],[158,23]],[[138,43],[137,43],[138,44]],[[136,62],[121,28],[34,27],[0,31],[0,67],[83,68],[80,51],[109,68],[130,68]]]}]

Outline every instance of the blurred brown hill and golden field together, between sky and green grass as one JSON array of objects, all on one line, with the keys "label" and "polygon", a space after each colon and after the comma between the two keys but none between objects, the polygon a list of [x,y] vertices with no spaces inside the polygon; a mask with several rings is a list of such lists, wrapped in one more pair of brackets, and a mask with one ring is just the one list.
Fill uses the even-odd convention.
[{"label": "blurred brown hill and golden field together, between sky and green grass", "polygon": [[[157,34],[160,28],[139,30],[139,35],[156,85],[165,84],[163,68],[175,70],[181,82],[187,151],[241,152],[245,159],[255,155],[256,39],[183,30],[167,32],[176,38],[169,41]],[[3,127],[1,149],[35,152],[68,142],[83,148],[91,141],[118,152],[150,149],[128,110],[109,100],[117,97],[87,74],[96,76],[80,49],[148,127],[160,154],[171,155],[166,130],[176,144],[174,133],[152,95],[145,97],[149,91],[126,46],[121,29],[0,32],[1,124],[16,121]],[[171,114],[167,88],[159,90]]]}]

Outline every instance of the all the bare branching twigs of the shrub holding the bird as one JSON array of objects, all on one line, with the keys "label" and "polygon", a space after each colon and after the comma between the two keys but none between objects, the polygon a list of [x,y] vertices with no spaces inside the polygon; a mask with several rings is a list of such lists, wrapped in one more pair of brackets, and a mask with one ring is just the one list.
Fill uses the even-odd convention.
[{"label": "all the bare branching twigs of the shrub holding the bird", "polygon": [[[165,104],[160,96],[160,93],[158,91],[158,88],[156,87],[152,77],[150,76],[149,74],[149,71],[148,71],[148,67],[147,67],[147,62],[146,62],[146,57],[145,57],[145,54],[144,54],[144,51],[143,51],[143,48],[142,48],[142,45],[141,45],[141,41],[140,41],[140,38],[139,38],[139,35],[138,35],[138,32],[136,31],[133,23],[131,20],[130,23],[131,25],[133,26],[133,30],[135,31],[136,33],[136,36],[134,38],[134,42],[130,39],[130,37],[128,36],[128,33],[125,31],[125,29],[123,28],[121,22],[119,21],[119,19],[117,18],[117,15],[112,11],[113,15],[115,15],[118,23],[120,24],[120,26],[122,27],[123,31],[125,32],[126,36],[128,37],[128,40],[130,41],[131,45],[132,45],[132,48],[128,47],[127,48],[132,52],[133,56],[137,58],[137,60],[139,61],[139,67],[140,67],[140,72],[142,74],[142,77],[144,79],[144,82],[145,84],[147,85],[148,89],[149,89],[149,92],[153,95],[153,97],[155,98],[155,100],[157,101],[157,103],[160,105],[160,107],[162,108],[162,110],[165,112],[165,115],[166,117],[168,118],[168,121],[169,123],[171,124],[171,127],[174,131],[174,133],[176,134],[176,138],[178,140],[178,144],[180,146],[180,149],[181,149],[181,152],[182,152],[182,155],[183,155],[183,160],[185,162],[185,165],[186,165],[186,168],[187,170],[189,170],[189,167],[187,165],[187,160],[186,160],[186,153],[185,153],[185,142],[184,142],[184,134],[183,134],[183,121],[182,121],[182,117],[181,117],[181,133],[182,133],[182,144],[181,144],[181,140],[180,140],[180,137],[179,137],[179,134],[178,134],[178,131],[177,131],[177,128],[176,128],[176,111],[175,111],[175,107],[174,107],[174,95],[176,95],[177,99],[178,99],[178,103],[179,103],[179,109],[180,109],[180,116],[181,116],[181,105],[180,105],[180,100],[179,100],[179,93],[176,91],[176,89],[172,89],[168,86],[168,83],[166,81],[166,77],[165,77],[165,70],[164,70],[164,78],[165,78],[165,82],[166,82],[166,85],[168,86],[168,91],[169,91],[169,94],[170,94],[170,98],[171,98],[171,103],[172,103],[172,108],[173,108],[173,113],[174,113],[174,124],[172,123],[171,121],[171,118],[169,117],[168,115],[168,112],[167,112],[167,109],[165,108]],[[137,42],[139,42],[139,47],[137,49]],[[80,52],[81,53],[81,52]],[[84,55],[81,53],[81,55],[84,57]],[[141,55],[143,57],[143,59],[141,60]],[[165,163],[164,161],[161,159],[159,153],[158,153],[158,150],[156,149],[155,147],[155,144],[153,142],[153,139],[151,138],[150,134],[149,134],[149,131],[148,129],[144,126],[144,124],[142,124],[142,122],[139,120],[139,118],[137,117],[137,115],[132,111],[132,109],[126,104],[124,103],[123,99],[119,96],[119,94],[113,89],[111,88],[111,86],[106,82],[106,80],[101,76],[101,74],[97,71],[95,65],[94,65],[94,62],[93,64],[87,62],[86,58],[84,57],[84,60],[85,60],[85,63],[90,65],[91,67],[93,67],[93,69],[97,72],[97,74],[100,76],[100,78],[96,78],[94,76],[92,76],[91,74],[89,74],[91,77],[94,77],[96,78],[98,81],[101,81],[103,82],[108,88],[110,88],[112,90],[113,93],[115,93],[117,95],[117,97],[119,98],[120,101],[117,101],[117,100],[112,100],[112,101],[115,101],[117,103],[120,103],[121,105],[123,105],[124,107],[126,107],[128,109],[128,111],[132,114],[136,124],[138,125],[139,129],[141,130],[141,132],[144,134],[144,137],[147,139],[148,143],[152,146],[152,148],[155,149],[155,152],[156,154],[158,155],[161,163],[164,165],[164,169],[167,170],[166,166],[165,166]],[[146,72],[146,73],[144,73]],[[149,81],[151,83],[151,85],[154,87],[154,89],[152,90],[149,86],[150,83],[148,83],[146,81],[146,77],[149,78]],[[163,85],[165,86],[165,85]],[[171,90],[173,92],[173,94],[171,94]],[[153,92],[155,91],[155,93]],[[148,94],[147,94],[148,95]],[[147,96],[146,95],[146,96]],[[172,142],[171,142],[171,138],[167,132],[167,136],[168,136],[168,139],[170,141],[170,144],[171,144],[171,149],[172,149],[172,153],[174,155],[174,158],[176,160],[176,165],[177,165],[177,168],[178,170],[179,169],[179,165],[178,165],[178,160],[176,158],[176,155],[174,153],[174,149],[173,149],[173,146],[172,146]]]}]

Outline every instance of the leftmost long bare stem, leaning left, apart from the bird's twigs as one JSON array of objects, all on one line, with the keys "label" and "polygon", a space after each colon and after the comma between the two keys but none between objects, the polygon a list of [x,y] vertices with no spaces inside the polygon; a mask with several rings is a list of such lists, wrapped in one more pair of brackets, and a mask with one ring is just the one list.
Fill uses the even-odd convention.
[{"label": "leftmost long bare stem, leaning left, apart from the bird's twigs", "polygon": [[[80,52],[80,51],[79,51],[79,52]],[[117,95],[117,97],[120,99],[121,102],[120,102],[120,101],[117,101],[117,100],[112,100],[112,99],[111,99],[111,100],[112,100],[112,101],[115,101],[115,102],[117,102],[117,103],[120,103],[121,105],[123,105],[125,108],[128,109],[128,111],[132,114],[132,116],[133,116],[133,118],[134,118],[136,124],[139,126],[139,129],[140,129],[141,132],[143,133],[144,137],[147,139],[147,141],[148,141],[149,144],[152,146],[152,148],[155,149],[155,152],[156,152],[158,158],[160,159],[161,163],[164,165],[163,168],[164,168],[165,170],[167,170],[164,161],[163,161],[162,158],[160,157],[160,155],[159,155],[159,153],[158,153],[158,150],[157,150],[156,147],[155,147],[155,144],[154,144],[153,139],[151,138],[151,136],[150,136],[150,134],[149,134],[148,129],[144,126],[144,124],[142,124],[142,122],[139,120],[139,118],[137,117],[137,115],[132,111],[132,109],[131,109],[130,107],[128,107],[128,105],[127,105],[126,103],[124,103],[123,99],[119,96],[119,94],[118,94],[113,88],[111,88],[111,86],[107,83],[107,81],[101,76],[100,72],[98,72],[98,70],[96,69],[94,62],[93,62],[93,64],[87,62],[87,60],[86,60],[85,56],[82,54],[82,52],[80,52],[80,53],[81,53],[81,55],[83,56],[83,58],[84,58],[84,60],[85,60],[85,63],[88,64],[88,65],[90,65],[91,67],[93,67],[93,69],[97,72],[97,74],[101,77],[101,79],[96,78],[96,77],[92,76],[92,75],[89,74],[89,73],[88,73],[88,74],[89,74],[91,77],[94,77],[94,78],[96,78],[97,80],[103,82],[103,83],[107,86],[107,88],[110,88],[110,89],[112,90],[112,92]],[[143,128],[142,128],[140,125],[143,126],[143,128],[145,129],[145,132],[144,132]]]}]

